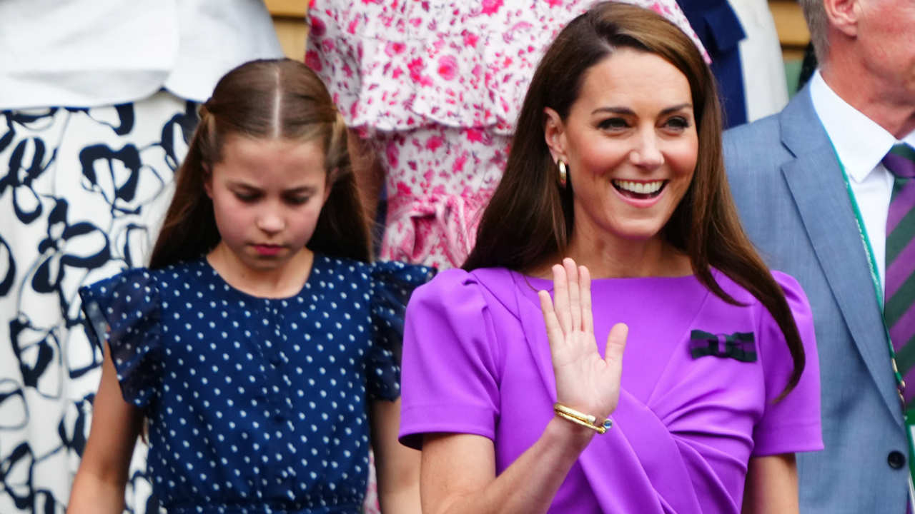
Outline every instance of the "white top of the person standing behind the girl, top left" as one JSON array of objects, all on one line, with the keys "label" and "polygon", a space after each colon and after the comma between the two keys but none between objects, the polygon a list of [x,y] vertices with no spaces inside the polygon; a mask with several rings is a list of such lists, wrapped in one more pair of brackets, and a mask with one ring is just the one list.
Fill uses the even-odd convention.
[{"label": "white top of the person standing behind the girl, top left", "polygon": [[228,70],[283,56],[261,0],[2,0],[0,110],[203,102]]}]

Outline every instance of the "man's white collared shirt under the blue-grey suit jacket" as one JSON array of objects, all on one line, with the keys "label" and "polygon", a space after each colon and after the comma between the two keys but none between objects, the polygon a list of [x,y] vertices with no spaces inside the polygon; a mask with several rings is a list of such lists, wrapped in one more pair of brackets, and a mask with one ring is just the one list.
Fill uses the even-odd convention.
[{"label": "man's white collared shirt under the blue-grey suit jacket", "polygon": [[[810,95],[813,110],[833,142],[839,161],[845,166],[848,182],[858,208],[861,209],[867,237],[874,249],[880,284],[884,284],[887,212],[889,197],[893,192],[893,175],[880,161],[893,145],[900,142],[893,134],[842,100],[826,85],[820,70],[816,70],[810,80]],[[915,131],[902,141],[915,146]]]}]

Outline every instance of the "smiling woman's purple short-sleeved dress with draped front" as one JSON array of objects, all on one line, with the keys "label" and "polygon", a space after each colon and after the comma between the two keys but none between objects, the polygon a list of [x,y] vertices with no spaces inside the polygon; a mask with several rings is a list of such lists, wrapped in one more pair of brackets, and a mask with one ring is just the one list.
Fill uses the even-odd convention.
[{"label": "smiling woman's purple short-sleeved dress with draped front", "polygon": [[[750,457],[823,448],[819,365],[800,285],[773,273],[803,339],[798,386],[780,329],[751,294],[713,272],[745,306],[694,276],[592,282],[597,347],[629,325],[613,428],[596,436],[550,512],[737,513]],[[479,434],[510,466],[554,416],[553,367],[537,290],[552,281],[505,269],[448,270],[416,290],[404,333],[401,440]]]}]

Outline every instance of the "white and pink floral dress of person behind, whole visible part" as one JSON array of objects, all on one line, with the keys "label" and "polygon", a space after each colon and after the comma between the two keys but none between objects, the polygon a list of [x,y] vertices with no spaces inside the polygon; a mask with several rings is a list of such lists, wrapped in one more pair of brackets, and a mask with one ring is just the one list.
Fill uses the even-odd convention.
[{"label": "white and pink floral dress of person behind, whole visible part", "polygon": [[[673,0],[627,2],[668,17],[702,48]],[[311,1],[306,63],[386,171],[382,259],[464,261],[540,57],[594,3]]]}]

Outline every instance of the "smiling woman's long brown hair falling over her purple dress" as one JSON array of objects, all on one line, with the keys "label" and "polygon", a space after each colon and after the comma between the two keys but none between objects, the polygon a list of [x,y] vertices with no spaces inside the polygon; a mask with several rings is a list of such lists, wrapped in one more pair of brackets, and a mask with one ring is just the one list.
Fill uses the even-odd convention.
[{"label": "smiling woman's long brown hair falling over her purple dress", "polygon": [[689,80],[699,139],[693,182],[662,229],[662,238],[689,256],[696,278],[713,294],[741,305],[721,289],[715,266],[764,305],[784,334],[794,369],[781,397],[804,367],[801,336],[784,292],[754,250],[737,218],[721,145],[721,108],[715,79],[694,43],[647,9],[606,2],[570,22],[546,51],[524,97],[505,174],[480,220],[465,270],[500,266],[524,272],[565,254],[575,224],[573,184],[557,185],[558,170],[544,138],[544,108],[565,121],[585,72],[617,48],[656,54]]}]

